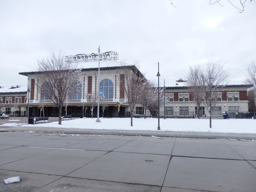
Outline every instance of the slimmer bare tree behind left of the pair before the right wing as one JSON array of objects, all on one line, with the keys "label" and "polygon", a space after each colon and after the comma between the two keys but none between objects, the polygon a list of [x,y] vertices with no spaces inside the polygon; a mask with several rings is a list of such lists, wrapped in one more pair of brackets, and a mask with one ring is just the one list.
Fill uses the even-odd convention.
[{"label": "slimmer bare tree behind left of the pair before the right wing", "polygon": [[185,83],[186,86],[189,87],[189,90],[191,94],[193,95],[193,98],[197,105],[197,118],[200,119],[199,111],[200,111],[200,105],[204,99],[205,93],[204,90],[201,88],[201,79],[200,75],[200,66],[195,65],[194,67],[189,67],[189,73],[187,75],[187,82]]}]

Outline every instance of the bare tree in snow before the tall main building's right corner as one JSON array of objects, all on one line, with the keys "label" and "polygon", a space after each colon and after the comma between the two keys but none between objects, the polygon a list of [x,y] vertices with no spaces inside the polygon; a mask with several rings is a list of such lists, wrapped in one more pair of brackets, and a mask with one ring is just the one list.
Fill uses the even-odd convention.
[{"label": "bare tree in snow before the tall main building's right corner", "polygon": [[133,110],[141,95],[141,90],[145,83],[145,77],[138,70],[138,63],[132,66],[126,66],[125,62],[120,66],[120,87],[124,87],[124,95],[131,111],[131,126],[133,126]]}]

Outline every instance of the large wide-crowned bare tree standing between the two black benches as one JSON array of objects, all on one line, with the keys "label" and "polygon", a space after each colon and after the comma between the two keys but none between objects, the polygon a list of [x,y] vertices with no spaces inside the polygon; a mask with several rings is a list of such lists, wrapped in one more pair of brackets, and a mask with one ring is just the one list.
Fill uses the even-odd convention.
[{"label": "large wide-crowned bare tree standing between the two black benches", "polygon": [[58,55],[52,53],[50,59],[38,61],[38,70],[40,86],[45,86],[44,90],[48,90],[49,99],[59,109],[59,125],[61,125],[63,103],[69,96],[70,87],[79,80],[81,70],[77,69],[76,63],[65,62],[65,56],[61,51]]}]

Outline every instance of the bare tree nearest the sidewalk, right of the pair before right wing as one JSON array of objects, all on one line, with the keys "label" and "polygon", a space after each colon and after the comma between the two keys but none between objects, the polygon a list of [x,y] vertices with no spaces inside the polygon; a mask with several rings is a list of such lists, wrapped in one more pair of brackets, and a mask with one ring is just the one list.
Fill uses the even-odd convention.
[{"label": "bare tree nearest the sidewalk, right of the pair before right wing", "polygon": [[218,95],[221,94],[221,88],[227,85],[228,72],[223,70],[225,63],[221,61],[214,62],[208,60],[206,65],[200,70],[202,93],[204,93],[204,104],[209,112],[210,128],[211,113],[214,109]]}]

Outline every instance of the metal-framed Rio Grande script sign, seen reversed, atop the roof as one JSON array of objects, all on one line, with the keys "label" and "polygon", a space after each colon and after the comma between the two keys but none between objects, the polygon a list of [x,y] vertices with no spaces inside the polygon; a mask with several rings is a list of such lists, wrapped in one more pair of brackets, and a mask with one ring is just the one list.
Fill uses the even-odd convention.
[{"label": "metal-framed Rio Grande script sign, seen reversed, atop the roof", "polygon": [[[100,60],[114,60],[118,59],[118,53],[113,51],[108,51],[100,54]],[[85,61],[98,61],[99,54],[91,53],[91,54],[77,54],[71,56],[65,56],[65,61],[69,63],[74,62],[85,62]]]}]

